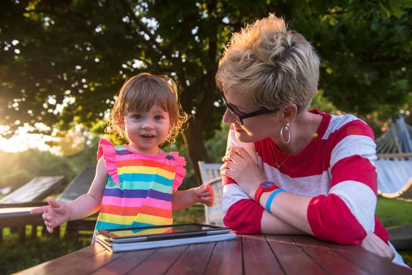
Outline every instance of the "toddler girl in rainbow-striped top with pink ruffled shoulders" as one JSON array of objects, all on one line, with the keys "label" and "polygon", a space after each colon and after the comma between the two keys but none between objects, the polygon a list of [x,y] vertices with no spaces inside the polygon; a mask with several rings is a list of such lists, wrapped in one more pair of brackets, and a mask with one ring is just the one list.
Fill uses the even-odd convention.
[{"label": "toddler girl in rainbow-striped top with pink ruffled shoulders", "polygon": [[[47,231],[69,220],[83,219],[100,210],[95,230],[172,224],[172,210],[196,202],[213,206],[211,186],[178,191],[186,170],[179,153],[159,148],[174,142],[187,121],[180,110],[176,85],[152,74],[139,74],[124,83],[111,111],[109,126],[128,144],[114,146],[101,139],[96,175],[87,194],[69,203],[47,198],[43,212]],[[93,243],[95,238],[93,238]]]}]

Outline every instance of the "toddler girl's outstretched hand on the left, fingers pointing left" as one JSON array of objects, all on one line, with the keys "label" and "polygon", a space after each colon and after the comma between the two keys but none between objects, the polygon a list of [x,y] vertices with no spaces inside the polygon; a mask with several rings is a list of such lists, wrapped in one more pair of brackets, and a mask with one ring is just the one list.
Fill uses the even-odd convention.
[{"label": "toddler girl's outstretched hand on the left, fingers pointing left", "polygon": [[70,208],[66,203],[61,201],[56,201],[52,197],[47,198],[48,206],[41,206],[39,208],[34,208],[30,211],[30,214],[40,214],[45,221],[47,226],[47,231],[53,233],[53,228],[56,228],[58,225],[67,221],[70,217]]}]

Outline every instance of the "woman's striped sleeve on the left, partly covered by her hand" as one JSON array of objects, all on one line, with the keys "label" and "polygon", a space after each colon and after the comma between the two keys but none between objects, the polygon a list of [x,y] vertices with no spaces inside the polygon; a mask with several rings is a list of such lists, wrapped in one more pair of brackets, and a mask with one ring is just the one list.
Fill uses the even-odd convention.
[{"label": "woman's striped sleeve on the left, partly covered by her hand", "polygon": [[[231,129],[227,138],[227,148],[242,146],[251,157],[257,161],[253,144],[239,142],[236,133]],[[250,199],[230,177],[222,177],[222,210],[223,223],[238,234],[260,234],[260,221],[264,208]]]}]

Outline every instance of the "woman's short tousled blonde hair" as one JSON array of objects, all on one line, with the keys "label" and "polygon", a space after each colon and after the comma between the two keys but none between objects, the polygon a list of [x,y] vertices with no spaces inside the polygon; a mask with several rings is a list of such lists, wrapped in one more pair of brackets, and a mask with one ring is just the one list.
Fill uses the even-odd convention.
[{"label": "woman's short tousled blonde hair", "polygon": [[251,93],[259,107],[278,111],[294,103],[302,113],[317,92],[319,64],[304,36],[269,14],[233,34],[220,58],[216,84],[222,91]]}]

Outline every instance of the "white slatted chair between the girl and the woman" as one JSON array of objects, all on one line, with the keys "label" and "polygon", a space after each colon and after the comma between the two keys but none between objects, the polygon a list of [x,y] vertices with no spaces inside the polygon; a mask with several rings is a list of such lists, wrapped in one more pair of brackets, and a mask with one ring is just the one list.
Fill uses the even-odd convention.
[{"label": "white slatted chair between the girl and the woman", "polygon": [[202,183],[210,184],[215,194],[214,206],[207,207],[205,205],[205,223],[224,225],[222,211],[222,177],[220,177],[220,166],[222,166],[222,164],[198,162],[198,165],[201,170]]}]

